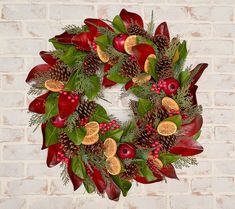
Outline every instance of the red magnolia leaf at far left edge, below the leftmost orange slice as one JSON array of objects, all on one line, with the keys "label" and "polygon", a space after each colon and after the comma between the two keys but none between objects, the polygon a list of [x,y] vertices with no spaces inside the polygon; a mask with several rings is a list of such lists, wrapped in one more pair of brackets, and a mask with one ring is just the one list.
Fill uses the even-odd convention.
[{"label": "red magnolia leaf at far left edge, below the leftmost orange slice", "polygon": [[46,99],[50,92],[47,92],[37,98],[35,98],[30,104],[29,104],[29,111],[38,113],[38,114],[44,114],[45,113],[45,103]]}]

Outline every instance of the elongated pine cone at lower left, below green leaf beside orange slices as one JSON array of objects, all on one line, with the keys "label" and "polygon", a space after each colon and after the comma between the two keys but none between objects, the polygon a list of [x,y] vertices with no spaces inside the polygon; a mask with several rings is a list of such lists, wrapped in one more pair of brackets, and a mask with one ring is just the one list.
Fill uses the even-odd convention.
[{"label": "elongated pine cone at lower left, below green leaf beside orange slices", "polygon": [[75,145],[64,132],[60,134],[59,142],[66,157],[72,158],[78,154],[79,146]]}]

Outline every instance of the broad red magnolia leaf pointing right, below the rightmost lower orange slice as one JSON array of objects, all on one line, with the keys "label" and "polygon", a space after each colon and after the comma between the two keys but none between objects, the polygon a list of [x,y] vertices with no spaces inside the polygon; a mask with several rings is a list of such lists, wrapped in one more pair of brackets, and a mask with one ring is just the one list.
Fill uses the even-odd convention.
[{"label": "broad red magnolia leaf pointing right, below the rightmost lower orange slice", "polygon": [[203,151],[203,147],[191,137],[181,137],[178,143],[170,149],[170,153],[181,156],[197,155]]}]

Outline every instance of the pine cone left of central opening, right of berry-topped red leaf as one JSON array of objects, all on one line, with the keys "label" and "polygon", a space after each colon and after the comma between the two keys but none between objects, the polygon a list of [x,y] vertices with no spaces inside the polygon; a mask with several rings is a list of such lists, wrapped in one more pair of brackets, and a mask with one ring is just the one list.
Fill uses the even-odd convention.
[{"label": "pine cone left of central opening, right of berry-topped red leaf", "polygon": [[77,112],[79,118],[89,118],[97,107],[97,104],[94,101],[83,101],[78,105]]}]

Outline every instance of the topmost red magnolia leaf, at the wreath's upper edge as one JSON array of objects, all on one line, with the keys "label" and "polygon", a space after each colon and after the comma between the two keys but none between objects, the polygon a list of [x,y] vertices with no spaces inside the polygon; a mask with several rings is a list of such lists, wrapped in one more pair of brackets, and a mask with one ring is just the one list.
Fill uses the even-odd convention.
[{"label": "topmost red magnolia leaf, at the wreath's upper edge", "polygon": [[138,25],[141,28],[144,27],[143,19],[136,13],[128,12],[127,10],[122,9],[120,12],[120,17],[122,18],[126,28],[129,28],[131,24]]}]

